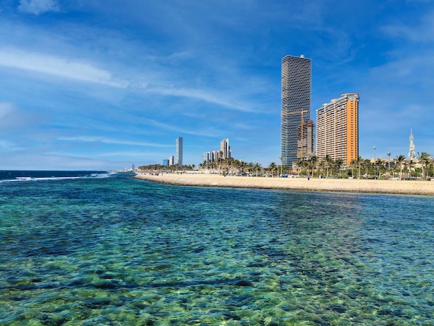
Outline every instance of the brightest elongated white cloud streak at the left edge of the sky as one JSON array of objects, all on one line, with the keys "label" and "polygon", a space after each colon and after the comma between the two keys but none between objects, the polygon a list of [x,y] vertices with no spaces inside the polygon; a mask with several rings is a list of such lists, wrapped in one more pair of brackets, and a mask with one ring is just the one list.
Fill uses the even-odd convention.
[{"label": "brightest elongated white cloud streak at the left edge of the sky", "polygon": [[110,71],[94,65],[61,58],[46,53],[21,51],[19,49],[0,49],[0,66],[35,71],[61,78],[98,83],[112,87],[126,87],[121,81],[114,80]]}]

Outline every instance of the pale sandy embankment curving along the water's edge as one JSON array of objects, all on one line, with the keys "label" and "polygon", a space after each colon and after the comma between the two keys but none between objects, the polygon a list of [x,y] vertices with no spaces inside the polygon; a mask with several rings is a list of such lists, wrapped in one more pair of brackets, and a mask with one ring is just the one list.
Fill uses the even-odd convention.
[{"label": "pale sandy embankment curving along the water's edge", "polygon": [[169,185],[198,187],[231,187],[256,189],[292,189],[303,191],[342,191],[372,194],[434,195],[434,181],[422,180],[358,180],[319,178],[259,178],[216,174],[137,173],[134,178]]}]

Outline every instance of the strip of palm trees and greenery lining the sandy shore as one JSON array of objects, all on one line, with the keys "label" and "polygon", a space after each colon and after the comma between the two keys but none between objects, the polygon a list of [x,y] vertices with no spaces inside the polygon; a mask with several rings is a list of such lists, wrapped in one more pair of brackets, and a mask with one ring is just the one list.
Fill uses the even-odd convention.
[{"label": "strip of palm trees and greenery lining the sandy shore", "polygon": [[295,170],[292,166],[282,166],[271,162],[267,167],[261,166],[257,162],[243,162],[233,157],[219,159],[215,161],[202,162],[196,168],[193,165],[177,164],[163,166],[152,164],[139,166],[139,170],[148,173],[161,172],[184,172],[184,171],[207,171],[220,175],[249,175],[249,176],[272,176],[278,175],[300,175],[312,178],[357,178],[357,179],[420,179],[429,180],[434,177],[434,159],[422,152],[415,160],[406,160],[405,155],[397,155],[394,159],[378,159],[376,161],[364,160],[358,157],[349,166],[345,166],[342,159],[332,160],[329,155],[320,159],[313,156],[309,160],[297,160]]}]

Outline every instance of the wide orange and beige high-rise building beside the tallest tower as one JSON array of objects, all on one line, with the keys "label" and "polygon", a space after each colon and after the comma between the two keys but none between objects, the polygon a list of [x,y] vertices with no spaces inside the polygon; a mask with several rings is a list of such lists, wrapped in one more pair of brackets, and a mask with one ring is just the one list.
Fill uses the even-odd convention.
[{"label": "wide orange and beige high-rise building beside the tallest tower", "polygon": [[358,159],[358,94],[342,94],[316,110],[316,155],[347,165]]}]

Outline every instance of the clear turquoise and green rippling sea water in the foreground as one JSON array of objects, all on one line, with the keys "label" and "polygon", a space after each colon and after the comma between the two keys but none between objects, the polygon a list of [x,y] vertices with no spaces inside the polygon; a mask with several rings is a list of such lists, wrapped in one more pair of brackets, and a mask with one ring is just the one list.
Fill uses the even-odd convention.
[{"label": "clear turquoise and green rippling sea water in the foreground", "polygon": [[0,173],[0,325],[434,323],[433,197],[130,176]]}]

